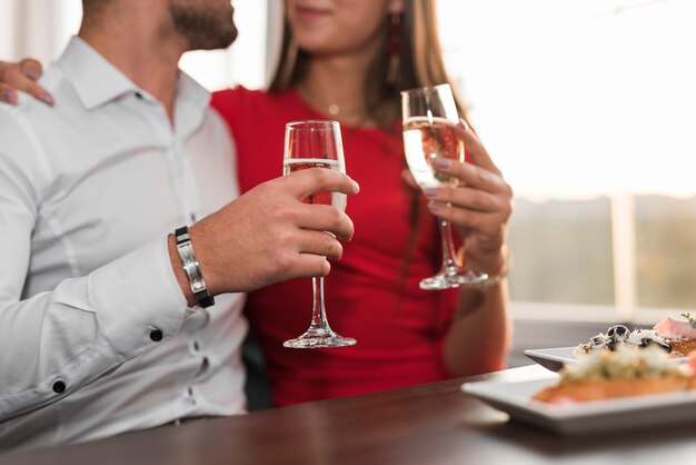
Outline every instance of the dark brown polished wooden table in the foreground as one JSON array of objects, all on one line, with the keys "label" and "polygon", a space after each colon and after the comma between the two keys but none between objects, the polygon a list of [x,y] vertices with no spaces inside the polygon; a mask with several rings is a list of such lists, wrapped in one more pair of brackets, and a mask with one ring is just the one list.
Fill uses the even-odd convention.
[{"label": "dark brown polished wooden table in the foreground", "polygon": [[[524,380],[539,366],[466,380]],[[692,464],[693,425],[560,437],[509,422],[451,379],[246,416],[191,422],[69,447],[0,455],[2,465]]]}]

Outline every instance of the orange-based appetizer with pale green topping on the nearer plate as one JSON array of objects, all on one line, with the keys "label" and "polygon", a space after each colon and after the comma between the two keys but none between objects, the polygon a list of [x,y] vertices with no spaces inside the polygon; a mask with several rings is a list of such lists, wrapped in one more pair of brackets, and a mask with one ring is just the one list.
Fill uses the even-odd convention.
[{"label": "orange-based appetizer with pale green topping on the nearer plate", "polygon": [[618,344],[614,350],[595,350],[560,370],[557,385],[533,398],[550,404],[610,399],[696,388],[690,364],[669,363],[656,345],[645,348]]}]

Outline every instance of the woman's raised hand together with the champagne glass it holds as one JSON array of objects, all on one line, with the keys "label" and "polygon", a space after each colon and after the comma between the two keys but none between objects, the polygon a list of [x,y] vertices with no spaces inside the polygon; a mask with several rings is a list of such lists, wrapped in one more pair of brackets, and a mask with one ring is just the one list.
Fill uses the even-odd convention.
[{"label": "woman's raised hand together with the champagne glass it holds", "polygon": [[[402,91],[401,109],[406,160],[430,199],[440,230],[440,270],[422,279],[420,287],[481,287],[499,281],[506,267],[511,189],[459,118],[448,85]],[[471,164],[465,164],[465,147]],[[454,250],[453,222],[464,240],[459,254]],[[498,267],[491,266],[494,261]]]}]

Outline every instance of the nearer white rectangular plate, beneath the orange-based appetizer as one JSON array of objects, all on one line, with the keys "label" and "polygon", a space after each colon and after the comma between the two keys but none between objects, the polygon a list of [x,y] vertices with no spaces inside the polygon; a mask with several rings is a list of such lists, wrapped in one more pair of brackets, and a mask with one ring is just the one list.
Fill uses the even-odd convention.
[{"label": "nearer white rectangular plate, beneath the orange-based appetizer", "polygon": [[658,425],[696,423],[696,392],[625,397],[578,404],[548,405],[533,400],[534,394],[557,382],[558,375],[518,382],[465,383],[461,390],[528,423],[561,435],[626,431]]}]

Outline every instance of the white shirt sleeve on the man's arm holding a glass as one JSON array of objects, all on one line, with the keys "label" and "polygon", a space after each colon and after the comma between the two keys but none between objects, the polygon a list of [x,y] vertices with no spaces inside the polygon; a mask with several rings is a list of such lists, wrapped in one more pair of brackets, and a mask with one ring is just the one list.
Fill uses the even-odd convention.
[{"label": "white shirt sleeve on the man's arm holding a glass", "polygon": [[22,299],[44,168],[21,123],[0,109],[0,422],[162,344],[187,314],[166,237]]}]

